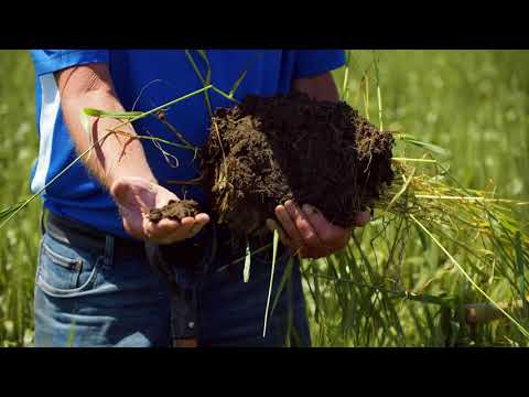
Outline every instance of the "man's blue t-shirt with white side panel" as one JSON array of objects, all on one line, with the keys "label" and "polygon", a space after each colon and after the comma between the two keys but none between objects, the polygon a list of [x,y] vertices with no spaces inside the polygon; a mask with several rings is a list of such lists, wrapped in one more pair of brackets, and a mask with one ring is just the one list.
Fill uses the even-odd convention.
[{"label": "man's blue t-shirt with white side panel", "polygon": [[[196,67],[206,77],[206,61],[191,51]],[[236,90],[241,100],[248,94],[276,95],[287,93],[292,79],[309,77],[342,66],[344,52],[336,50],[208,50],[210,82],[229,92],[239,76],[247,74]],[[39,126],[39,159],[31,174],[31,190],[39,191],[76,157],[74,143],[64,124],[60,95],[53,73],[69,66],[107,63],[116,93],[126,110],[150,110],[166,101],[203,87],[203,83],[183,50],[32,50],[36,75],[36,122]],[[209,90],[213,110],[234,103]],[[208,137],[209,116],[204,95],[184,99],[169,109],[168,120],[195,146]],[[150,133],[175,141],[175,136],[154,116],[134,122],[139,135]],[[198,176],[198,162],[193,152],[162,143],[163,149],[179,160],[179,167],[168,163],[163,153],[150,141],[142,140],[148,162],[160,184],[180,197],[182,186],[168,181]],[[205,194],[197,186],[186,186],[187,198],[204,203]],[[44,205],[57,215],[77,219],[107,233],[130,237],[123,229],[118,208],[108,192],[93,178],[82,161],[45,189]]]}]

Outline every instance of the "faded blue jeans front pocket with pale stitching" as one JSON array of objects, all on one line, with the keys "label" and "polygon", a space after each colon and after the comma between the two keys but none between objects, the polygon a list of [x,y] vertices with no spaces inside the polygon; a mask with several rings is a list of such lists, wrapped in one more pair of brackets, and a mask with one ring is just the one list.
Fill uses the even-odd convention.
[{"label": "faded blue jeans front pocket with pale stitching", "polygon": [[53,297],[74,297],[94,287],[104,256],[44,235],[39,255],[36,286]]}]

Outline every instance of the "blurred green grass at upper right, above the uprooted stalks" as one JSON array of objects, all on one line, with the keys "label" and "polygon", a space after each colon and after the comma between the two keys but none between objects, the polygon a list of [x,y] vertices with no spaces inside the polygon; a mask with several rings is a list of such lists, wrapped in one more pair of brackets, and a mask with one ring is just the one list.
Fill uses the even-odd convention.
[{"label": "blurred green grass at upper right, above the uprooted stalks", "polygon": [[[386,129],[451,149],[451,170],[467,187],[493,179],[503,195],[527,198],[529,51],[378,54]],[[371,60],[371,52],[353,52],[353,105],[361,104],[355,77]],[[377,103],[370,101],[378,124]]]}]

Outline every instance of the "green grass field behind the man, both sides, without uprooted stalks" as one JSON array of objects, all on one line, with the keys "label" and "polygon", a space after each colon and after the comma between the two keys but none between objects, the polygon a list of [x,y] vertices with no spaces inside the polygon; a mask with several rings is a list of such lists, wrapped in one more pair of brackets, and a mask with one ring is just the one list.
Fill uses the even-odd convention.
[{"label": "green grass field behind the man, both sides, without uprooted stalks", "polygon": [[[465,187],[487,190],[494,183],[497,196],[529,200],[529,74],[526,72],[529,51],[354,51],[352,56],[350,105],[365,112],[361,77],[378,57],[386,129],[412,133],[449,149],[452,157],[444,164]],[[0,208],[4,208],[29,194],[28,175],[37,142],[29,54],[0,51],[0,71],[4,76],[0,82]],[[343,74],[343,71],[336,73],[338,84]],[[376,81],[373,73],[369,76],[369,117],[378,124]],[[413,149],[398,154],[411,157]],[[0,345],[3,346],[32,343],[39,214],[35,201],[0,230]],[[527,211],[518,211],[517,217],[527,221]],[[455,320],[460,304],[483,302],[483,297],[450,265],[446,255],[417,229],[409,232],[406,244],[399,243],[398,268],[388,265],[387,258],[384,260],[387,247],[369,244],[377,227],[370,225],[364,233],[358,230],[350,251],[326,262],[304,264],[315,345],[528,344],[505,320],[464,330]],[[387,228],[385,240],[391,240],[395,227]],[[527,232],[527,224],[520,224],[520,228]],[[450,248],[464,266],[474,269],[473,259],[463,248],[456,245]],[[376,254],[382,259],[378,260]],[[333,273],[339,282],[325,280],[327,276],[331,278],[330,264],[336,265],[333,269],[344,271],[346,277]],[[315,271],[320,271],[320,279],[311,279]],[[527,264],[525,272],[529,272]],[[373,288],[388,275],[398,278],[393,296]],[[474,269],[471,276],[498,300],[517,298],[508,282],[511,275],[495,273],[494,267],[484,267]],[[345,288],[345,280],[358,287]],[[449,308],[450,312],[396,293],[403,290],[450,296],[457,304]],[[527,321],[525,325],[527,329]]]}]

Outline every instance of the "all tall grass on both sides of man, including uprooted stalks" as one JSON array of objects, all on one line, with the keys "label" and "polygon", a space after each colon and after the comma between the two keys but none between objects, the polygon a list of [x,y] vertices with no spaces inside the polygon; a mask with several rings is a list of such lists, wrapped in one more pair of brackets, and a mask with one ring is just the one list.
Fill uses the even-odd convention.
[{"label": "all tall grass on both sides of man, including uprooted stalks", "polygon": [[[523,65],[529,52],[354,51],[348,60],[349,67],[335,77],[350,105],[370,115],[374,124],[384,122],[385,129],[436,143],[453,157],[434,154],[439,164],[431,161],[433,157],[424,162],[396,162],[399,180],[393,193],[401,194],[390,211],[377,211],[374,222],[358,229],[342,253],[303,264],[314,344],[527,345],[520,331],[529,328],[527,313],[515,308],[527,288],[527,223],[522,223],[527,206],[512,214],[504,210],[506,203],[454,202],[439,195],[528,200],[529,180],[523,171],[529,165],[529,76]],[[4,171],[0,208],[4,208],[28,195],[36,133],[29,55],[0,52],[0,69],[10,76],[0,83],[0,165]],[[207,75],[201,78],[205,86],[209,83]],[[401,142],[396,157],[423,153],[424,147]],[[452,176],[455,180],[447,181]],[[445,182],[453,189],[442,191]],[[410,203],[425,210],[423,216],[414,213],[418,223],[399,215],[399,208]],[[457,221],[462,217],[472,225],[473,219],[487,219],[490,210],[500,214],[499,226],[505,229],[489,217],[489,224],[481,226],[498,235],[485,243],[487,236],[476,234],[475,225],[461,227]],[[32,337],[39,205],[32,203],[17,216],[17,223],[0,230],[2,345],[28,344]],[[430,236],[432,229],[435,234]],[[505,316],[468,325],[465,304],[487,299],[461,269],[490,299],[501,302],[519,326]]]}]

